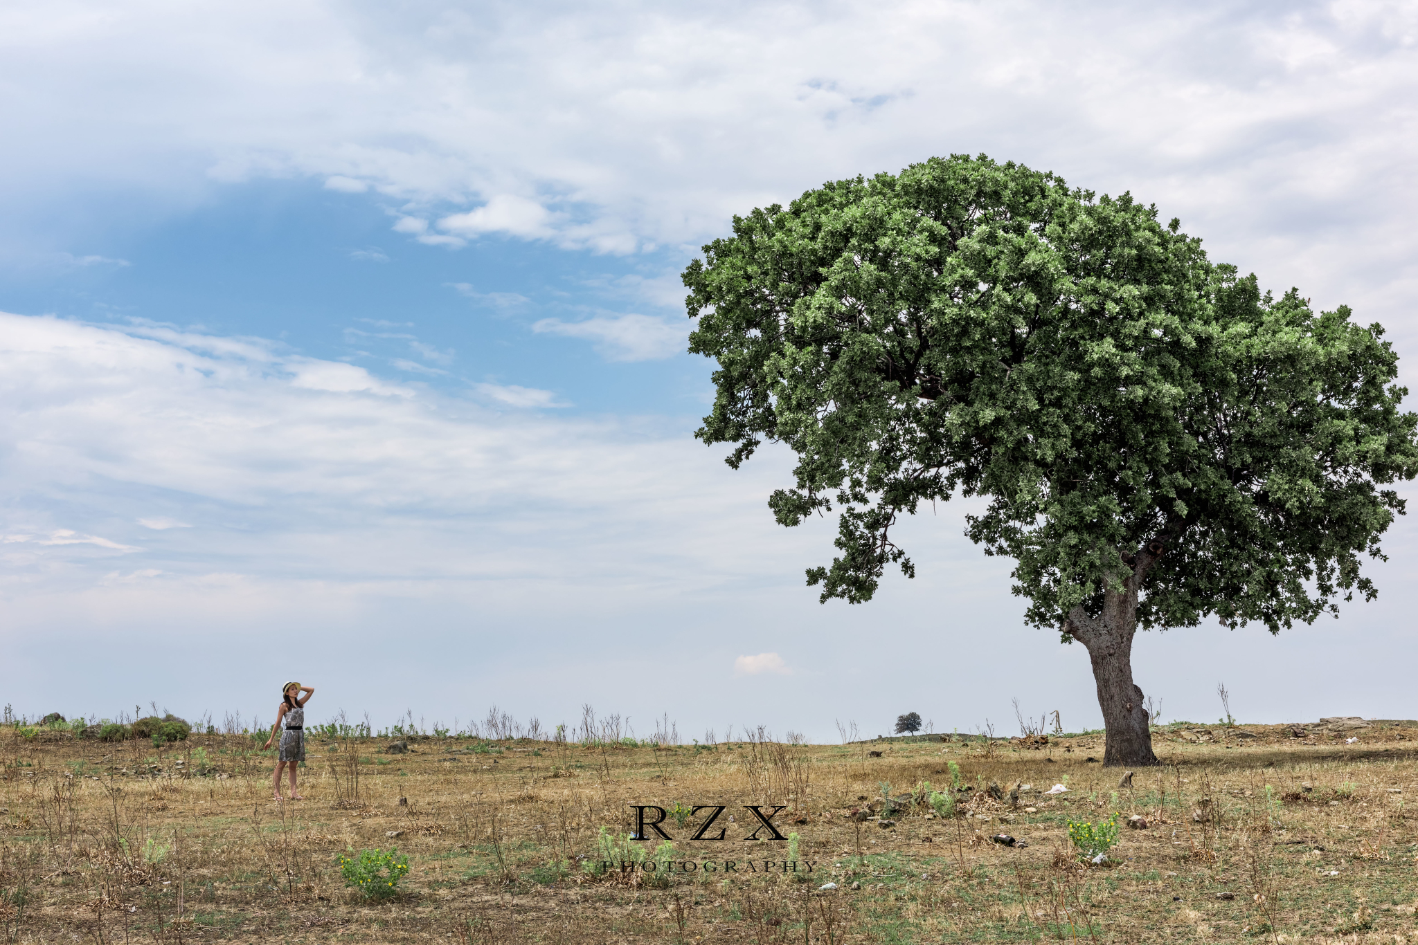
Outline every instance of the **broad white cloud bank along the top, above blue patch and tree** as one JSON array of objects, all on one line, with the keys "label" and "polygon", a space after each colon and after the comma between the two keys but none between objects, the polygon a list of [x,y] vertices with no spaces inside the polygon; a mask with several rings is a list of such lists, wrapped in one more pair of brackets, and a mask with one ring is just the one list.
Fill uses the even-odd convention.
[{"label": "broad white cloud bank along the top, above blue patch and tree", "polygon": [[693,248],[828,179],[984,150],[1130,188],[1269,285],[1412,307],[1412,4],[618,11],[9,9],[0,82],[26,94],[7,99],[0,193],[172,207],[210,181],[308,174],[366,184],[424,242],[632,252]]}]

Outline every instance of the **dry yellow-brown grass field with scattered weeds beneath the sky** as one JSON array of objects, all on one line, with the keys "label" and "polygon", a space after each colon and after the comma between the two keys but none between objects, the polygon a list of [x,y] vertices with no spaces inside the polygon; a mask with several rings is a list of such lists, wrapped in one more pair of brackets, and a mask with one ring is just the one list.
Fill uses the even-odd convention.
[{"label": "dry yellow-brown grass field with scattered weeds beneath the sky", "polygon": [[[1130,786],[1096,734],[398,755],[312,737],[284,803],[247,737],[0,730],[0,921],[18,942],[1418,942],[1418,730],[1292,728],[1159,728],[1166,765]],[[681,809],[672,849],[624,840],[630,805],[722,805],[725,839],[689,839],[710,812]],[[746,805],[786,805],[795,840],[746,839]],[[1081,864],[1068,822],[1115,812],[1147,826]],[[596,874],[625,859],[603,827],[649,863]],[[390,847],[394,895],[346,885],[340,854]]]}]

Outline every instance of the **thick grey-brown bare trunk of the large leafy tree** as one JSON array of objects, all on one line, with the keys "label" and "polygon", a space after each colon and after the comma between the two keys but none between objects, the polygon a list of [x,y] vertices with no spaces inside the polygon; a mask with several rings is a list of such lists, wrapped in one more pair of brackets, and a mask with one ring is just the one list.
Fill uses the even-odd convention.
[{"label": "thick grey-brown bare trunk of the large leafy tree", "polygon": [[1137,595],[1109,594],[1103,613],[1090,618],[1073,608],[1065,629],[1083,646],[1093,663],[1098,706],[1103,710],[1103,765],[1141,768],[1160,764],[1151,749],[1151,730],[1143,708],[1143,690],[1133,683],[1133,633],[1137,628]]}]

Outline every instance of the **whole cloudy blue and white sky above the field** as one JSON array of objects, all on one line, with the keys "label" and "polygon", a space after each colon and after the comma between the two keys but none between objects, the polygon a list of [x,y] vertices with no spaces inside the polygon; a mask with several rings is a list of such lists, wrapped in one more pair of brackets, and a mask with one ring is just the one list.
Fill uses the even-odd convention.
[{"label": "whole cloudy blue and white sky above the field", "polygon": [[[1098,724],[961,503],[906,530],[916,581],[817,604],[786,458],[692,439],[678,273],[735,213],[986,152],[1354,306],[1412,385],[1415,86],[1402,3],[11,6],[0,701]],[[1411,520],[1387,545],[1380,602],[1144,635],[1139,681],[1412,715]]]}]

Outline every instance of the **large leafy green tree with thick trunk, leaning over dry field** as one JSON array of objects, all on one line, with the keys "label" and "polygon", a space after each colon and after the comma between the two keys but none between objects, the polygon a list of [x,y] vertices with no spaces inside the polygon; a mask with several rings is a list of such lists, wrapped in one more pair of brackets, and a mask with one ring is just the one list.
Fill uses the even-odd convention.
[{"label": "large leafy green tree with thick trunk, leaning over dry field", "polygon": [[1337,613],[1402,514],[1418,417],[1378,324],[1207,259],[1129,194],[981,156],[828,183],[735,217],[683,273],[689,350],[719,363],[698,436],[797,453],[769,499],[835,511],[822,601],[871,599],[903,513],[980,496],[1025,619],[1092,659],[1105,762],[1156,764],[1139,626]]}]

